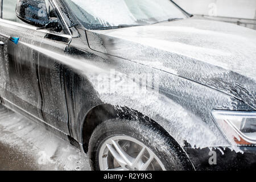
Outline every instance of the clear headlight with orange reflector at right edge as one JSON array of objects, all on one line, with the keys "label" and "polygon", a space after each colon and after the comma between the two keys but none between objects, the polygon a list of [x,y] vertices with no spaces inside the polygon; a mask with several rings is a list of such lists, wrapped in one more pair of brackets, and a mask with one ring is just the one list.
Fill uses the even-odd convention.
[{"label": "clear headlight with orange reflector at right edge", "polygon": [[212,116],[231,144],[256,144],[256,112],[213,110]]}]

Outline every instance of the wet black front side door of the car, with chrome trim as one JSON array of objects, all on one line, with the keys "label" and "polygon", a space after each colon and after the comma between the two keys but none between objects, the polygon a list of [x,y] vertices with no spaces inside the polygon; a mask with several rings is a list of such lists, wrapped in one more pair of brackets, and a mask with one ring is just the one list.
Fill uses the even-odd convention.
[{"label": "wet black front side door of the car, with chrome trim", "polygon": [[[61,32],[37,30],[16,18],[16,0],[2,0],[3,8],[13,2],[8,18],[3,9],[0,32],[19,36],[18,45],[6,42],[6,86],[4,98],[57,131],[68,135],[68,110],[65,101],[63,65],[56,55],[63,55],[71,36]],[[8,2],[8,3],[7,3]],[[51,14],[60,18],[47,0]],[[55,13],[55,14],[54,14]],[[13,20],[15,19],[15,20]],[[61,21],[61,20],[60,20]],[[2,93],[0,93],[2,97]]]}]

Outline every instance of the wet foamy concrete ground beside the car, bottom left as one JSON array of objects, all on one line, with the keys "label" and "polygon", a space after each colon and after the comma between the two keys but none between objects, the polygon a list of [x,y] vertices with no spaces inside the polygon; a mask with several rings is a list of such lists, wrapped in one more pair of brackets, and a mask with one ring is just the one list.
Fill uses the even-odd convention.
[{"label": "wet foamy concrete ground beside the car, bottom left", "polygon": [[88,157],[0,105],[0,170],[90,170]]}]

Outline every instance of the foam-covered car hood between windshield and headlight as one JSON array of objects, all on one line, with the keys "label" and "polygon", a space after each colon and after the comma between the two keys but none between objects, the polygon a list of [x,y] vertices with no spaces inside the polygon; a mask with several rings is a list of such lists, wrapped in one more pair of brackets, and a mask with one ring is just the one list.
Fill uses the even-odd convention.
[{"label": "foam-covered car hood between windshield and headlight", "polygon": [[254,30],[189,18],[87,35],[95,51],[199,82],[256,109]]}]

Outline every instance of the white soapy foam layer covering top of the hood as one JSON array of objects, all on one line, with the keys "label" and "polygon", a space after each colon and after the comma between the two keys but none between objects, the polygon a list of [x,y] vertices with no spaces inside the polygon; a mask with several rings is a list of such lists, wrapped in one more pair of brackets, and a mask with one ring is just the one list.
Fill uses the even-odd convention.
[{"label": "white soapy foam layer covering top of the hood", "polygon": [[[211,65],[216,65],[254,78],[256,57],[256,33],[248,28],[226,24],[221,22],[211,22],[206,20],[187,19],[176,22],[159,23],[151,26],[120,28],[115,30],[95,31],[99,35],[110,36],[122,39],[123,42],[130,42],[132,45],[154,48],[150,49],[154,53],[166,51],[173,55],[182,55],[193,60],[202,61]],[[122,42],[119,40],[119,42]],[[119,43],[118,42],[118,43]],[[116,46],[118,55],[121,48]],[[134,44],[135,43],[135,44]],[[133,52],[130,52],[133,54]],[[143,57],[136,55],[133,57],[138,63],[144,64]],[[157,60],[156,60],[157,61]],[[175,60],[161,60],[162,63],[172,63]],[[152,66],[154,61],[148,61]],[[171,65],[169,64],[170,68]],[[174,65],[176,71],[182,69],[182,65]],[[203,69],[203,68],[202,68]],[[164,69],[165,70],[165,69]]]}]

